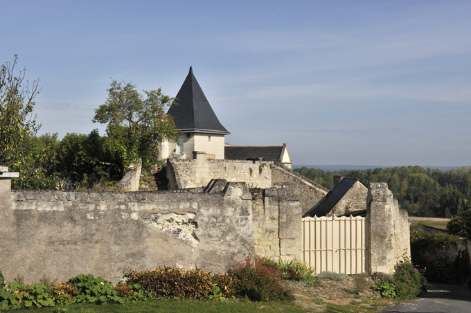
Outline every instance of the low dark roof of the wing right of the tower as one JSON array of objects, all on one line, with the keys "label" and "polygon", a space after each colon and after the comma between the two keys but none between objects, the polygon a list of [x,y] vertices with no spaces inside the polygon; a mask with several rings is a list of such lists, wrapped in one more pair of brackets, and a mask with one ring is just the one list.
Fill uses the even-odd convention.
[{"label": "low dark roof of the wing right of the tower", "polygon": [[260,158],[264,159],[265,161],[280,161],[282,151],[283,145],[276,145],[270,147],[224,147],[224,159],[247,160]]}]

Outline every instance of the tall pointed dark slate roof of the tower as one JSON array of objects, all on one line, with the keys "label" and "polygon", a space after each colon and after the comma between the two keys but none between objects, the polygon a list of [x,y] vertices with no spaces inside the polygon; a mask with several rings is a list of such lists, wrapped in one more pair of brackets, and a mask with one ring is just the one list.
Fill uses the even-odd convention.
[{"label": "tall pointed dark slate roof of the tower", "polygon": [[214,114],[208,99],[199,87],[190,66],[190,72],[177,93],[177,99],[168,109],[177,129],[182,132],[229,134]]}]

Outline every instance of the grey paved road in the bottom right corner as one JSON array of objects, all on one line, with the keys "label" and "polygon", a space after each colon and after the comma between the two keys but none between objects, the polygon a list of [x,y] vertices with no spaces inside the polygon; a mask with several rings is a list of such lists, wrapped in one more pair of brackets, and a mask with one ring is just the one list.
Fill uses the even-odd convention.
[{"label": "grey paved road in the bottom right corner", "polygon": [[423,298],[393,307],[382,307],[389,313],[471,313],[471,289],[456,285],[430,283]]}]

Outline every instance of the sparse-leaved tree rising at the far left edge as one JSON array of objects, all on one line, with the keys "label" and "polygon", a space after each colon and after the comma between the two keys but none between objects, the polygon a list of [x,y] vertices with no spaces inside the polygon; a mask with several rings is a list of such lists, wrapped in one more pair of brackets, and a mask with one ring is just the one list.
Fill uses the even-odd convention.
[{"label": "sparse-leaved tree rising at the far left edge", "polygon": [[22,175],[28,156],[28,138],[36,134],[40,125],[33,116],[33,99],[39,90],[34,80],[32,87],[25,80],[25,72],[15,73],[18,56],[13,62],[1,65],[0,72],[0,165]]}]

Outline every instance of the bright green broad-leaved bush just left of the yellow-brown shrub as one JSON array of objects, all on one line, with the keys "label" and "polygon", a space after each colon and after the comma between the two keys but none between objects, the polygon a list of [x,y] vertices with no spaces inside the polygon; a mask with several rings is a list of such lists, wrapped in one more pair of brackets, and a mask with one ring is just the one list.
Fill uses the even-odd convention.
[{"label": "bright green broad-leaved bush just left of the yellow-brown shrub", "polygon": [[87,276],[80,274],[69,279],[69,282],[75,287],[76,295],[73,302],[85,303],[123,303],[123,298],[118,296],[118,292],[112,286],[112,283],[104,280],[100,276],[94,277],[91,274]]}]

